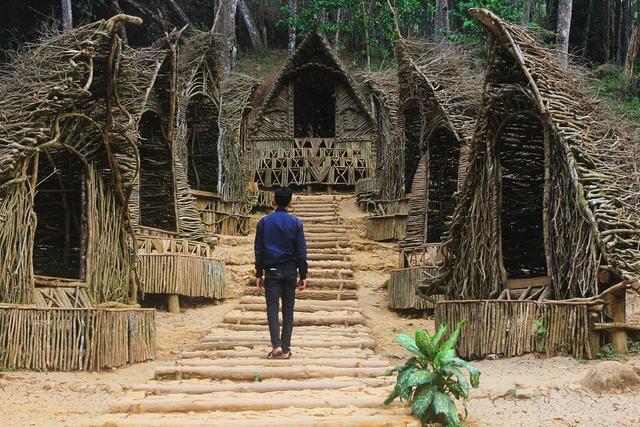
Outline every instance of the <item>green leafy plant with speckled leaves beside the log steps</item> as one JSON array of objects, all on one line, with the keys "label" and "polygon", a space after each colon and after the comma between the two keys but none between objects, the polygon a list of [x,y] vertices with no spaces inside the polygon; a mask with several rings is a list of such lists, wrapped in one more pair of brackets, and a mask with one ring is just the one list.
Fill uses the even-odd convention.
[{"label": "green leafy plant with speckled leaves beside the log steps", "polygon": [[[469,384],[473,388],[480,385],[480,371],[456,355],[455,346],[464,323],[464,320],[458,323],[444,341],[449,329],[446,325],[441,325],[433,336],[425,329],[419,329],[415,338],[407,334],[396,338],[396,342],[410,351],[413,357],[387,372],[387,375],[397,372],[398,377],[385,405],[400,398],[409,402],[413,415],[423,422],[460,425],[454,399],[462,399],[466,418]],[[469,380],[462,369],[468,371]]]}]

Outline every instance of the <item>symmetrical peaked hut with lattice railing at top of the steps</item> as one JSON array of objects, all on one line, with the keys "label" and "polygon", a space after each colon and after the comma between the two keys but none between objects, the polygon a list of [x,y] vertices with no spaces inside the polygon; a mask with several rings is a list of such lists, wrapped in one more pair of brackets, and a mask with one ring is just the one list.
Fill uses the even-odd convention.
[{"label": "symmetrical peaked hut with lattice railing at top of the steps", "polygon": [[287,60],[252,124],[255,181],[353,187],[375,168],[375,123],[327,40],[312,32]]}]

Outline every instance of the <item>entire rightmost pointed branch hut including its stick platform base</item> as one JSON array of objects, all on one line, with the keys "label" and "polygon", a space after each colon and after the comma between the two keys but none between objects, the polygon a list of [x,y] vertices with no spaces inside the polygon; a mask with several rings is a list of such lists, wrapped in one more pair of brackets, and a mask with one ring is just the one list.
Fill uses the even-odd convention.
[{"label": "entire rightmost pointed branch hut including its stick platform base", "polygon": [[464,357],[591,357],[597,330],[623,350],[640,272],[635,148],[526,30],[470,14],[491,48],[442,275],[423,288],[454,299],[437,322],[468,320]]}]

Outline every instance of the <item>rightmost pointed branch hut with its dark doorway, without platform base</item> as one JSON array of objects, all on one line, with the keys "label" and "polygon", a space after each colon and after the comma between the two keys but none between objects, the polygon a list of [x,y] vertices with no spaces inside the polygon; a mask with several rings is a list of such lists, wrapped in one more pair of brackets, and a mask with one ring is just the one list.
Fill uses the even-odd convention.
[{"label": "rightmost pointed branch hut with its dark doorway, without platform base", "polygon": [[[634,144],[584,95],[584,79],[526,30],[486,10],[470,13],[490,34],[489,68],[443,275],[430,292],[497,298],[515,275],[544,275],[544,295],[565,299],[638,277]],[[505,172],[510,159],[517,170]]]}]

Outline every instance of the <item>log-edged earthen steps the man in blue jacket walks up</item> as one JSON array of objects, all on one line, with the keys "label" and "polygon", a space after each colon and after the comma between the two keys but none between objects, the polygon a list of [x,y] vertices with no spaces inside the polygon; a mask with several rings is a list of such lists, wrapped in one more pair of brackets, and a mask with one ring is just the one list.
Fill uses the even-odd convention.
[{"label": "log-edged earthen steps the man in blue jacket walks up", "polygon": [[408,410],[382,402],[395,382],[376,356],[353,279],[341,224],[343,196],[297,196],[305,224],[307,289],[297,294],[290,360],[269,360],[264,296],[249,286],[195,348],[134,385],[146,397],[123,401],[105,426],[419,426]]}]

